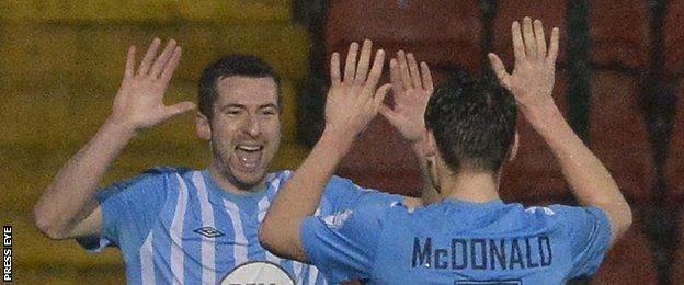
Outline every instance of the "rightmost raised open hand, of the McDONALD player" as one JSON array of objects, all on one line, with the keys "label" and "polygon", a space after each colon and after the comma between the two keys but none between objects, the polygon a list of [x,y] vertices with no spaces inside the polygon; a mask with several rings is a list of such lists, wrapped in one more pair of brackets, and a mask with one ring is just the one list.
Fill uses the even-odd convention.
[{"label": "rightmost raised open hand, of the McDONALD player", "polygon": [[547,50],[542,21],[523,20],[523,29],[518,22],[511,26],[515,68],[508,73],[501,59],[489,54],[492,68],[501,83],[509,89],[523,111],[531,107],[552,104],[556,57],[558,56],[558,29],[551,32]]}]

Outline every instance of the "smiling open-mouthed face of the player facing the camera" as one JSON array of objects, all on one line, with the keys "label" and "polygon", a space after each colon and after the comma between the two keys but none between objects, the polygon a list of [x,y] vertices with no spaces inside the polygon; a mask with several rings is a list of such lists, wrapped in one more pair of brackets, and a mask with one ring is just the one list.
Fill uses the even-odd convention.
[{"label": "smiling open-mouthed face of the player facing the camera", "polygon": [[209,140],[209,172],[227,190],[259,191],[281,142],[277,86],[270,77],[231,76],[216,83],[213,118],[200,115]]}]

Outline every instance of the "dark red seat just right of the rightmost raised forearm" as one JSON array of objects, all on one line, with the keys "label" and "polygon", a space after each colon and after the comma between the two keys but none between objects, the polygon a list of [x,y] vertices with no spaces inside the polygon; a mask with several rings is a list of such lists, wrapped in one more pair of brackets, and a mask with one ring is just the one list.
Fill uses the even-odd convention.
[{"label": "dark red seat just right of the rightmost raised forearm", "polygon": [[591,149],[629,201],[648,204],[652,201],[654,164],[639,109],[638,87],[635,77],[614,71],[594,72]]}]

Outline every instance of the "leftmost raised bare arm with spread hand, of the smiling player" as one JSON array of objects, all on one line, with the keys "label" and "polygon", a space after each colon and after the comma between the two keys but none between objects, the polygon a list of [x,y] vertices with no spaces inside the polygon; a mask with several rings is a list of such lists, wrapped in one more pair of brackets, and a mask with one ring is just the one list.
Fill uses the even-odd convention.
[{"label": "leftmost raised bare arm with spread hand, of the smiling player", "polygon": [[157,57],[159,46],[160,41],[155,39],[137,72],[135,47],[130,47],[112,114],[59,170],[35,205],[36,226],[47,237],[67,239],[100,233],[102,213],[94,194],[107,168],[135,133],[194,107],[191,102],[163,104],[163,93],[180,60],[181,48],[171,39]]}]

